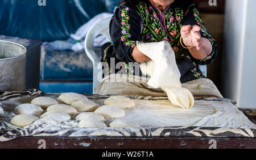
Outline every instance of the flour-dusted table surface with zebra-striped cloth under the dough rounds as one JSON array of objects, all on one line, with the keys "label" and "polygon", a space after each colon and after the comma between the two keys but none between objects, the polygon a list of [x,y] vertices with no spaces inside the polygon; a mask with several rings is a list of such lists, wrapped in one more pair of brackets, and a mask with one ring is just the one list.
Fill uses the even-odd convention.
[{"label": "flour-dusted table surface with zebra-striped cloth under the dough rounds", "polygon": [[[57,98],[59,95],[42,93],[40,90],[0,93],[1,106],[5,111],[5,114],[0,116],[0,141],[2,141],[2,144],[8,144],[10,140],[9,144],[15,144],[12,142],[18,143],[20,139],[35,143],[42,138],[56,142],[72,140],[72,146],[83,144],[82,141],[86,141],[88,144],[97,144],[99,148],[104,145],[105,147],[117,148],[122,146],[122,143],[119,144],[120,140],[121,142],[127,142],[129,139],[139,143],[144,141],[145,144],[157,140],[160,144],[164,144],[166,142],[181,142],[184,140],[192,142],[196,139],[226,140],[228,138],[230,141],[232,139],[240,139],[243,140],[243,143],[247,140],[250,144],[251,142],[256,144],[255,124],[250,122],[234,106],[232,101],[220,98],[196,98],[195,106],[191,109],[180,109],[170,106],[166,97],[130,97],[137,107],[135,109],[127,109],[125,111],[126,116],[120,119],[136,122],[140,124],[140,128],[77,128],[75,121],[57,124],[38,120],[25,128],[17,128],[10,124],[11,118],[15,115],[13,111],[16,105],[28,103],[37,96]],[[104,100],[109,97],[109,95],[86,96],[98,103],[98,105],[102,105]],[[107,124],[112,121],[107,119]],[[18,137],[22,138],[16,139]],[[113,140],[113,144],[102,144],[106,139]],[[69,141],[67,142],[68,144],[70,143]],[[239,143],[240,141],[237,142]],[[49,144],[51,143],[49,142]],[[57,144],[59,143],[57,142]],[[52,147],[57,147],[57,144],[52,144]],[[71,147],[71,144],[69,145]],[[3,145],[0,143],[0,146]],[[68,147],[68,145],[66,146]],[[77,147],[79,146],[82,145],[77,145]],[[93,145],[89,146],[93,148]],[[139,146],[144,145],[141,144]],[[167,146],[173,148],[170,144]],[[255,145],[254,147],[256,148]]]}]

